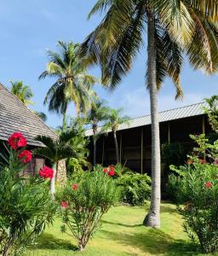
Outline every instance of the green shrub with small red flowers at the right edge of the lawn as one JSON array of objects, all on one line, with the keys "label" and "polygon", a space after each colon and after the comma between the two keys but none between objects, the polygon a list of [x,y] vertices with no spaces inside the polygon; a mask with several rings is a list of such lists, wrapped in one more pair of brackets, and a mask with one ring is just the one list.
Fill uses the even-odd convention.
[{"label": "green shrub with small red flowers at the right edge of the lawn", "polygon": [[[186,168],[186,171],[185,171]],[[181,171],[181,170],[180,170]],[[218,250],[218,166],[192,160],[182,167],[183,177],[178,185],[177,199],[185,219],[185,230],[203,253]]]}]

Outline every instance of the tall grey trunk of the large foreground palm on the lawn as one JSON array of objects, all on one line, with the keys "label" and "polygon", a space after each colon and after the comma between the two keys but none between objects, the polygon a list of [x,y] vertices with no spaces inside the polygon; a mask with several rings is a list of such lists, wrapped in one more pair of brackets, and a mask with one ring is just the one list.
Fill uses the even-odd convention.
[{"label": "tall grey trunk of the large foreground palm on the lawn", "polygon": [[149,227],[160,226],[160,139],[158,123],[158,92],[156,84],[156,49],[155,49],[155,18],[148,14],[147,29],[148,51],[148,86],[150,90],[152,119],[152,197],[150,211],[143,224]]}]

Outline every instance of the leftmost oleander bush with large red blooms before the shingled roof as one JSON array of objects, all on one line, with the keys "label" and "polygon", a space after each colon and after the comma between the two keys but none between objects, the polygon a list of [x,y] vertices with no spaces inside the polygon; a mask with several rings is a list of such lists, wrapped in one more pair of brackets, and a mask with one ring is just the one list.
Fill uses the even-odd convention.
[{"label": "leftmost oleander bush with large red blooms before the shingled roof", "polygon": [[[53,222],[56,210],[49,195],[48,183],[40,177],[25,179],[20,172],[32,154],[23,146],[25,138],[10,137],[12,148],[5,146],[0,165],[0,253],[3,256],[20,254]],[[22,138],[22,140],[20,140]],[[14,148],[14,149],[13,149]]]}]

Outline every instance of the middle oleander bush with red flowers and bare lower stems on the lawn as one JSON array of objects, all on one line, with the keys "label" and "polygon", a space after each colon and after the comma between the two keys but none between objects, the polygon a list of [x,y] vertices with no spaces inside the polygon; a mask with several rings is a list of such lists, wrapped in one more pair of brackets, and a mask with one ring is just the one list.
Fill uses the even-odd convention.
[{"label": "middle oleander bush with red flowers and bare lower stems on the lawn", "polygon": [[59,195],[61,230],[77,239],[83,250],[100,225],[100,218],[118,201],[118,188],[102,169],[83,172],[70,180]]}]

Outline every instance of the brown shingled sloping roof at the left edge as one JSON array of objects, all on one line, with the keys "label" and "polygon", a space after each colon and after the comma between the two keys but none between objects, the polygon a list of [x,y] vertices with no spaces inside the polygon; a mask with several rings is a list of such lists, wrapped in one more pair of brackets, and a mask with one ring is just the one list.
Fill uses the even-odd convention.
[{"label": "brown shingled sloping roof at the left edge", "polygon": [[43,146],[34,140],[37,135],[57,138],[49,126],[0,84],[0,140],[7,140],[14,131],[22,132],[32,146]]}]

